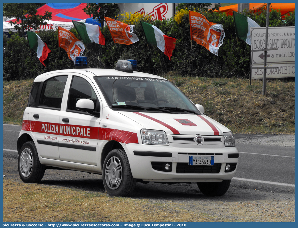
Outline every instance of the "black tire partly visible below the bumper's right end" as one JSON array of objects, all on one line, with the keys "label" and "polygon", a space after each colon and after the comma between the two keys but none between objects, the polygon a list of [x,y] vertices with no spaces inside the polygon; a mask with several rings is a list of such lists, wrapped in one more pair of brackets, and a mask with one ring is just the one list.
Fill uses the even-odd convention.
[{"label": "black tire partly visible below the bumper's right end", "polygon": [[231,180],[223,180],[222,182],[197,182],[200,191],[207,196],[224,195],[229,189]]}]

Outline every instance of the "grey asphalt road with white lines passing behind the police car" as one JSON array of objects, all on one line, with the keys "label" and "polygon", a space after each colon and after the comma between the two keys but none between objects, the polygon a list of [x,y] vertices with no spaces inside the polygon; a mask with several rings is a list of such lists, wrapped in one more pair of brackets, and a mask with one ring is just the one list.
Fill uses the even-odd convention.
[{"label": "grey asphalt road with white lines passing behind the police car", "polygon": [[[16,142],[20,130],[21,126],[3,124],[3,162],[7,159],[18,158]],[[235,134],[236,146],[240,156],[238,169],[232,179],[231,186],[242,189],[257,188],[266,192],[295,192],[295,147],[293,146],[295,138],[293,135],[283,135],[283,138],[279,139],[274,137],[276,138],[278,135]],[[263,143],[261,144],[263,145],[260,145],[262,140]],[[277,146],[276,143],[285,146]],[[17,167],[15,169],[17,173]],[[47,170],[47,172],[49,171]],[[58,176],[53,177],[54,179],[63,179],[64,171],[55,172]],[[85,175],[82,172],[77,173],[79,173],[76,174],[77,178]],[[95,178],[101,179],[101,176],[94,175]]]}]

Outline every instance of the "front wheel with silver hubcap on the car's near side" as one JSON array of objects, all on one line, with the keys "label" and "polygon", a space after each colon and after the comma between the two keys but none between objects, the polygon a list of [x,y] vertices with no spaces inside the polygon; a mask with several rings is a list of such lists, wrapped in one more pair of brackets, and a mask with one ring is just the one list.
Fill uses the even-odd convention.
[{"label": "front wheel with silver hubcap on the car's near side", "polygon": [[112,150],[103,163],[103,185],[111,196],[127,196],[136,186],[127,155],[122,149]]}]

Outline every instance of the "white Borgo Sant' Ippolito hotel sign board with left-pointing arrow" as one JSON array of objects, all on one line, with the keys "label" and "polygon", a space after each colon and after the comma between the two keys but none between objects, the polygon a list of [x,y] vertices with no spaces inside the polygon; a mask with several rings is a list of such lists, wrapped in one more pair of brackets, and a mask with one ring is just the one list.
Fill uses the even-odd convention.
[{"label": "white Borgo Sant' Ippolito hotel sign board with left-pointing arrow", "polygon": [[[251,50],[265,48],[266,27],[251,28]],[[295,62],[295,27],[269,27],[267,64]],[[252,64],[264,64],[264,51],[252,52]]]}]

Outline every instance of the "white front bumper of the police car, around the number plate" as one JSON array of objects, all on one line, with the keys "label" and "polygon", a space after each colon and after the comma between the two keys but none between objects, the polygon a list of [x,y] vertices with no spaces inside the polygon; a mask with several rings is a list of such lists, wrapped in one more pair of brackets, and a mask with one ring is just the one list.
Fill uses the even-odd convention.
[{"label": "white front bumper of the police car, around the number plate", "polygon": [[[201,145],[170,143],[169,146],[126,144],[131,172],[134,178],[157,182],[216,182],[230,180],[237,170],[238,150],[224,144]],[[205,154],[214,156],[214,166],[189,166],[189,156]],[[231,158],[232,157],[232,158]],[[152,163],[170,163],[171,171],[153,169]],[[236,165],[225,172],[226,164]],[[181,173],[182,172],[182,173]]]}]

